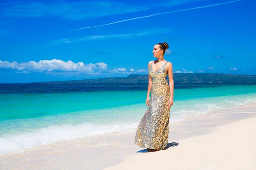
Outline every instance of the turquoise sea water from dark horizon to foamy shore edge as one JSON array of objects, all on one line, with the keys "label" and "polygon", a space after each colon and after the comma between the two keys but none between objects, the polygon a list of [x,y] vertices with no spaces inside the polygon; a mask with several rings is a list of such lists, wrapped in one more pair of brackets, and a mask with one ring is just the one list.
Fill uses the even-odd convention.
[{"label": "turquoise sea water from dark horizon to foamy shore edge", "polygon": [[[0,85],[0,155],[135,129],[147,84]],[[175,85],[170,122],[256,102],[256,85]]]}]

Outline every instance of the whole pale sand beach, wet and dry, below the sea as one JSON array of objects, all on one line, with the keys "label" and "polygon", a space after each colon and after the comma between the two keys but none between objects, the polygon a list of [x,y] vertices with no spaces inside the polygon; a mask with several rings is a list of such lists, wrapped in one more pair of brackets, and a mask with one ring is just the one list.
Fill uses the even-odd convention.
[{"label": "whole pale sand beach, wet and dry, below the sea", "polygon": [[135,146],[133,130],[3,155],[0,170],[255,170],[255,124],[246,105],[170,123],[166,150]]}]

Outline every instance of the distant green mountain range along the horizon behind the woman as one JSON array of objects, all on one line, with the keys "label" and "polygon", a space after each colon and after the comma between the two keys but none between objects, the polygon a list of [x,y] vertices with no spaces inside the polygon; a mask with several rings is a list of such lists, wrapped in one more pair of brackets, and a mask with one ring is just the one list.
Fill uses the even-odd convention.
[{"label": "distant green mountain range along the horizon behind the woman", "polygon": [[[168,76],[167,76],[168,78]],[[174,82],[181,83],[256,83],[256,75],[221,73],[174,73]],[[168,80],[168,79],[167,79]],[[31,82],[31,83],[148,83],[148,74],[131,74],[127,77],[106,77],[99,79]]]}]

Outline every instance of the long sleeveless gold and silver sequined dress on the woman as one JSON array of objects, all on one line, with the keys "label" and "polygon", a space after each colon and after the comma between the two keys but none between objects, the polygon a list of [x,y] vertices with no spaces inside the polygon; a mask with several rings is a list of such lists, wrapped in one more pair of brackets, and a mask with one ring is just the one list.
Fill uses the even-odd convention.
[{"label": "long sleeveless gold and silver sequined dress on the woman", "polygon": [[152,78],[151,99],[145,115],[137,128],[135,145],[162,150],[167,146],[169,136],[170,89],[166,81],[166,64],[153,71],[152,63],[148,74]]}]

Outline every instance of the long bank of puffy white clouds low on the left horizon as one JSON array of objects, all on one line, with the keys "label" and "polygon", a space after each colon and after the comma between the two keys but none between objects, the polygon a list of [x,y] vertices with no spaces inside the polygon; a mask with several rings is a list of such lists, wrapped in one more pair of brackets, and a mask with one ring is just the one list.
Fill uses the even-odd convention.
[{"label": "long bank of puffy white clouds low on the left horizon", "polygon": [[98,62],[96,64],[89,63],[84,64],[84,62],[72,62],[72,61],[62,61],[60,59],[52,60],[40,60],[39,62],[29,61],[29,62],[8,62],[0,60],[0,68],[9,68],[16,71],[16,73],[29,73],[29,72],[41,72],[44,74],[52,75],[63,75],[70,76],[79,74],[131,74],[131,73],[143,73],[147,72],[144,69],[135,71],[133,68],[126,70],[126,68],[113,68],[108,69],[108,65],[104,62]]}]

